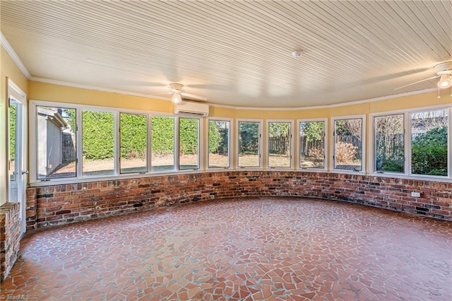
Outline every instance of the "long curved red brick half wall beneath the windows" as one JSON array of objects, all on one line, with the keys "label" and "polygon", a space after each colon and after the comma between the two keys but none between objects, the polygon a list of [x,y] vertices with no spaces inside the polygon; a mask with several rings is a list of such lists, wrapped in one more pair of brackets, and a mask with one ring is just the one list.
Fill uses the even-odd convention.
[{"label": "long curved red brick half wall beneath the windows", "polygon": [[[412,197],[411,192],[420,192]],[[305,196],[452,220],[452,183],[326,172],[203,172],[32,187],[28,230],[207,199]]]}]

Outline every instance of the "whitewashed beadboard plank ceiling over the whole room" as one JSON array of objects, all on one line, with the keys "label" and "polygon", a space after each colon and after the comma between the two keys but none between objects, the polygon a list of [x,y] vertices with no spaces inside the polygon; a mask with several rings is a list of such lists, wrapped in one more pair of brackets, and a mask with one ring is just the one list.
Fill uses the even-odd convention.
[{"label": "whitewashed beadboard plank ceiling over the whole room", "polygon": [[33,80],[148,98],[177,82],[219,105],[335,105],[434,88],[394,90],[452,61],[447,0],[0,5],[1,33]]}]

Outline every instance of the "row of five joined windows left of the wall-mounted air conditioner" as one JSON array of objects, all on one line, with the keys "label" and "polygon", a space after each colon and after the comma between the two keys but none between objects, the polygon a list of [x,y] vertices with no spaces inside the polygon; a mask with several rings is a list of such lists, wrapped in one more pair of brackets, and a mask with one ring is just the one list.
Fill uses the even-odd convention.
[{"label": "row of five joined windows left of the wall-mounted air conditioner", "polygon": [[33,114],[39,181],[200,168],[198,117],[44,105]]}]

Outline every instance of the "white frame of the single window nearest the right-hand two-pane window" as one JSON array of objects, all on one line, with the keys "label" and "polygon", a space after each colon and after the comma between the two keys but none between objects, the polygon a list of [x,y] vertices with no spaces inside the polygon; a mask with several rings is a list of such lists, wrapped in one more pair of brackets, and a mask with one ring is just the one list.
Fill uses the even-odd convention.
[{"label": "white frame of the single window nearest the right-hand two-pane window", "polygon": [[[343,170],[340,168],[335,168],[335,123],[337,120],[345,120],[345,119],[362,119],[362,129],[361,129],[361,170]],[[359,174],[359,175],[365,175],[366,174],[366,157],[367,157],[367,148],[366,148],[366,114],[359,114],[359,115],[348,115],[348,116],[338,116],[338,117],[331,117],[331,134],[330,134],[330,151],[331,155],[330,158],[330,171],[331,172],[339,172],[339,173],[351,173],[351,174]]]}]

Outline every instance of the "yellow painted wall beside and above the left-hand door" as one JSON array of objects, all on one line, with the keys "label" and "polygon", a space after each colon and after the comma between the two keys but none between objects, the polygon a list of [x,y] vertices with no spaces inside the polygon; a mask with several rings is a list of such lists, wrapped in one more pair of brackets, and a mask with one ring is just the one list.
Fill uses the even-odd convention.
[{"label": "yellow painted wall beside and above the left-hand door", "polygon": [[8,83],[10,78],[28,94],[28,79],[18,69],[3,47],[0,49],[0,205],[8,199]]}]

